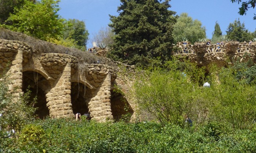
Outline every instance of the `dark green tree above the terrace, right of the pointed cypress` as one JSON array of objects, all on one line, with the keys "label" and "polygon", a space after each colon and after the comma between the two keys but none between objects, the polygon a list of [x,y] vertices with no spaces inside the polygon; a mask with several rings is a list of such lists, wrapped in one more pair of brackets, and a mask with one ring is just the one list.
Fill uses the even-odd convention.
[{"label": "dark green tree above the terrace, right of the pointed cypress", "polygon": [[239,18],[227,27],[227,38],[238,42],[249,41],[253,39],[253,34],[245,29],[244,23],[241,24]]}]

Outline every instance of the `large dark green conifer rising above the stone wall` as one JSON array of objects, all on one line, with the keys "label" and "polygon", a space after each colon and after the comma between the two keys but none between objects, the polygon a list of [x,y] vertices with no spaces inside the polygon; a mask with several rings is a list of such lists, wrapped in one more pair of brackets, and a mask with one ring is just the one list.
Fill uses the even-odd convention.
[{"label": "large dark green conifer rising above the stone wall", "polygon": [[110,15],[114,43],[111,54],[127,64],[146,66],[151,59],[168,59],[173,43],[175,12],[169,1],[120,0],[118,16]]}]

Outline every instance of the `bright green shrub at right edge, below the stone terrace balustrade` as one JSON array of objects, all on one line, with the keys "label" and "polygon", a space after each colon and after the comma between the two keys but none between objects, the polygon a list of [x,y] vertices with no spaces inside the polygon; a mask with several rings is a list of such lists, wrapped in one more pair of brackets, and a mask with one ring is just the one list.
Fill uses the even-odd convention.
[{"label": "bright green shrub at right edge, below the stone terrace balustrade", "polygon": [[220,83],[212,81],[211,88],[202,93],[209,103],[211,121],[233,130],[251,129],[255,126],[255,86],[237,81],[231,68],[222,68],[218,74]]}]

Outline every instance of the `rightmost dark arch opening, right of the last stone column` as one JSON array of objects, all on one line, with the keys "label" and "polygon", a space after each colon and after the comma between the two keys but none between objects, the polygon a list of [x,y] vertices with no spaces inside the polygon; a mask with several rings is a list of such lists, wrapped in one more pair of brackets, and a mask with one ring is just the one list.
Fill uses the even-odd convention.
[{"label": "rightmost dark arch opening, right of the last stone column", "polygon": [[[120,89],[117,89],[120,90]],[[113,119],[115,121],[119,121],[123,115],[127,115],[127,121],[131,119],[134,110],[131,105],[128,103],[127,99],[121,92],[117,92],[114,89],[110,90],[111,98],[110,98],[110,109],[113,115]]]}]

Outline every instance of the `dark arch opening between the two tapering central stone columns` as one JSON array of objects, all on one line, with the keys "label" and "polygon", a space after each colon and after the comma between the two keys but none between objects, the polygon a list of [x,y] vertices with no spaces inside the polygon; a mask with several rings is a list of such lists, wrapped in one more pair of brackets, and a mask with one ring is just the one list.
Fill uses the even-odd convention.
[{"label": "dark arch opening between the two tapering central stone columns", "polygon": [[71,82],[71,104],[73,113],[89,113],[91,90],[83,82]]}]

